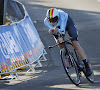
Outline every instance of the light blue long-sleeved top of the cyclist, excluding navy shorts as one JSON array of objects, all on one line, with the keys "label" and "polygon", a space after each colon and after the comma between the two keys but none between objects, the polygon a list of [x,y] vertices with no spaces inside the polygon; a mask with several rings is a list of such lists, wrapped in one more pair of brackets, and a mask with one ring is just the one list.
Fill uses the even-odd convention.
[{"label": "light blue long-sleeved top of the cyclist, excluding navy shorts", "polygon": [[60,29],[58,29],[58,30],[59,30],[60,33],[62,33],[62,32],[65,32],[65,28],[66,28],[67,21],[68,21],[68,14],[65,13],[62,10],[58,10],[58,12],[59,12],[59,18],[58,18],[58,23],[57,23],[56,26],[53,27],[50,24],[50,22],[49,22],[47,17],[44,19],[44,23],[49,29],[53,29],[55,27],[60,26]]}]

